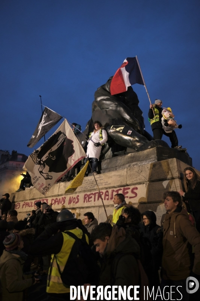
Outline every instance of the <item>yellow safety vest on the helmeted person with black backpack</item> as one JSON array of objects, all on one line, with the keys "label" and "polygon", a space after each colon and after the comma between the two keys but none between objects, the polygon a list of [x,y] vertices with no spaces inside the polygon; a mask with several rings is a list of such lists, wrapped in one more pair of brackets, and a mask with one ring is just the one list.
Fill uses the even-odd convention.
[{"label": "yellow safety vest on the helmeted person with black backpack", "polygon": [[[67,230],[71,233],[75,234],[78,238],[82,238],[82,230],[79,228],[75,228],[72,230]],[[56,254],[57,263],[59,265],[59,268],[61,272],[64,269],[64,266],[68,260],[69,254],[71,252],[71,248],[75,242],[75,239],[73,239],[68,234],[62,232],[63,235],[63,245],[58,254]],[[84,234],[85,235],[85,234]],[[85,235],[86,242],[89,243],[87,235]],[[65,287],[61,278],[60,274],[57,269],[56,260],[54,258],[54,254],[51,255],[51,261],[50,261],[50,268],[48,270],[48,277],[47,277],[47,287],[46,292],[48,293],[66,293],[70,292],[70,288]]]}]

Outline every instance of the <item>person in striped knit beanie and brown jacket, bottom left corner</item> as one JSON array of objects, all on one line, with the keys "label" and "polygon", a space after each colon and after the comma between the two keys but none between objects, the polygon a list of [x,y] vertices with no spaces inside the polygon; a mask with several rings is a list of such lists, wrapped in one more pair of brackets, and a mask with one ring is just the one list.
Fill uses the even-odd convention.
[{"label": "person in striped knit beanie and brown jacket, bottom left corner", "polygon": [[23,291],[39,279],[22,272],[27,255],[21,251],[23,241],[19,234],[9,234],[3,244],[5,250],[0,257],[1,301],[22,301]]}]

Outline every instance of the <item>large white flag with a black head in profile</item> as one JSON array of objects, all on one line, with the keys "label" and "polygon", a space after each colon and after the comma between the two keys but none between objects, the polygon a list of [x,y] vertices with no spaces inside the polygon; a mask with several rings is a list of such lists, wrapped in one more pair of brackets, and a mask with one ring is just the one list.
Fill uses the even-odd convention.
[{"label": "large white flag with a black head in profile", "polygon": [[53,184],[77,162],[85,158],[85,152],[66,119],[58,129],[30,156],[23,166],[31,182],[45,195]]}]

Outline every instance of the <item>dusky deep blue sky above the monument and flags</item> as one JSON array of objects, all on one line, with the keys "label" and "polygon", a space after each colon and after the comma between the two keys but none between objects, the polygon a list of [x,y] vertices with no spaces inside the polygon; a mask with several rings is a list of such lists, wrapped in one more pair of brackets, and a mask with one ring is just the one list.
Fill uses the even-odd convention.
[{"label": "dusky deep blue sky above the monument and flags", "polygon": [[[172,108],[182,124],[178,144],[200,170],[199,7],[197,0],[1,0],[0,148],[32,152],[26,144],[41,115],[39,95],[84,129],[95,90],[137,55],[152,103]],[[152,134],[145,89],[132,88]]]}]

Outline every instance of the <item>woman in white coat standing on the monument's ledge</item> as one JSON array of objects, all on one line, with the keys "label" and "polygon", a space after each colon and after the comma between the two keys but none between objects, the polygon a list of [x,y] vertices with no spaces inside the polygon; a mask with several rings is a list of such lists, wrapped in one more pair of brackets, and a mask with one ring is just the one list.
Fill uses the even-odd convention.
[{"label": "woman in white coat standing on the monument's ledge", "polygon": [[92,126],[94,128],[93,132],[89,133],[88,136],[85,136],[88,142],[86,156],[91,162],[92,173],[96,174],[102,144],[107,141],[107,133],[104,129],[102,129],[102,124],[97,120],[94,121]]}]

